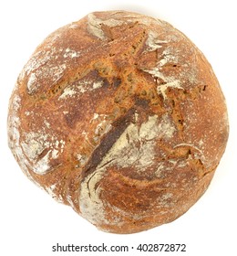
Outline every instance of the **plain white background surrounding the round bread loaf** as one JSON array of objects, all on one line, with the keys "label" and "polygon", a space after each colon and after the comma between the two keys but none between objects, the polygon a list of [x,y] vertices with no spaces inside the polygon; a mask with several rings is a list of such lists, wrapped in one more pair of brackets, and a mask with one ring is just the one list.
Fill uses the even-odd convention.
[{"label": "plain white background surrounding the round bread loaf", "polygon": [[[0,4],[0,254],[7,255],[237,255],[236,144],[237,18],[225,1],[1,1]],[[7,104],[18,73],[52,31],[98,10],[123,9],[160,17],[179,28],[211,62],[225,94],[230,137],[211,187],[180,219],[132,235],[99,231],[31,183],[7,147]],[[235,156],[236,155],[236,156]],[[52,246],[185,243],[187,252],[52,252]]]}]

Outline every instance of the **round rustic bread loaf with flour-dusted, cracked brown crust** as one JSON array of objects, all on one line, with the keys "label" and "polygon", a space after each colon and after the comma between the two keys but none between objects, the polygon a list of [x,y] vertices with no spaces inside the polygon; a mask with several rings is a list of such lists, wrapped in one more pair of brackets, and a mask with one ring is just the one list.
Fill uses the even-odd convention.
[{"label": "round rustic bread loaf with flour-dusted, cracked brown crust", "polygon": [[228,127],[201,51],[167,22],[124,11],[92,13],[46,37],[8,113],[9,146],[26,176],[115,233],[191,208]]}]

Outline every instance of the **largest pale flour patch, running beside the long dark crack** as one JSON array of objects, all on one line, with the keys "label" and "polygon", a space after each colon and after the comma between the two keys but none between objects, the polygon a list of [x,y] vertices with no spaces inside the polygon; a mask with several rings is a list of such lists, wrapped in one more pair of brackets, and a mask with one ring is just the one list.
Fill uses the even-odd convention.
[{"label": "largest pale flour patch, running beside the long dark crack", "polygon": [[[148,121],[142,123],[140,127],[130,123],[96,170],[82,182],[80,188],[82,216],[94,224],[107,224],[105,205],[100,198],[102,190],[98,183],[106,176],[108,167],[116,165],[118,168],[124,168],[133,165],[138,173],[146,171],[146,167],[152,165],[154,161],[156,140],[159,138],[170,140],[175,131],[176,127],[167,114],[160,118],[157,115],[149,116]],[[136,146],[138,143],[139,147]]]}]

